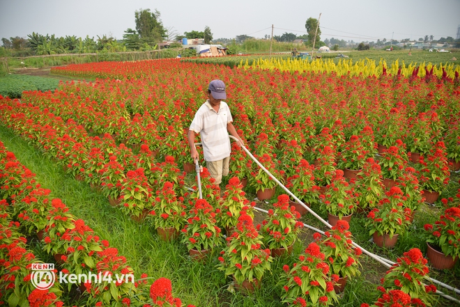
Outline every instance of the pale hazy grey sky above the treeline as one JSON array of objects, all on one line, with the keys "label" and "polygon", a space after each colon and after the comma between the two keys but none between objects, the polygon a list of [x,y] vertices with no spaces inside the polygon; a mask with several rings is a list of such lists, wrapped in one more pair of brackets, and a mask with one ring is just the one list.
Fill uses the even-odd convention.
[{"label": "pale hazy grey sky above the treeline", "polygon": [[460,0],[0,0],[0,38],[36,32],[122,39],[136,27],[135,11],[146,8],[158,10],[163,26],[176,34],[209,26],[215,39],[263,38],[272,24],[275,36],[302,35],[306,20],[320,13],[321,40],[457,38],[460,26]]}]

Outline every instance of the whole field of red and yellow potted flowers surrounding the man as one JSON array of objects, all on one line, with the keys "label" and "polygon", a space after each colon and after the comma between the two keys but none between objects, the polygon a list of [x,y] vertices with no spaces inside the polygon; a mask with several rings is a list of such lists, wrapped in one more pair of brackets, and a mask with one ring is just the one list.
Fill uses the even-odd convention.
[{"label": "whole field of red and yellow potted flowers surrounding the man", "polygon": [[[179,59],[68,65],[52,72],[98,79],[24,92],[21,100],[0,97],[0,300],[7,306],[454,304],[436,292],[456,294],[427,276],[459,288],[459,265],[432,267],[426,242],[453,258],[460,254],[459,68],[264,65]],[[187,128],[212,79],[227,85],[233,124],[254,157],[325,220],[352,215],[349,223],[339,220],[329,230],[311,214],[300,216],[280,188],[265,202],[256,199],[276,184],[236,144],[225,184],[215,186],[205,168],[204,200],[197,200],[194,170],[185,171],[192,162]],[[37,180],[17,158],[21,152],[10,149],[15,142],[59,169],[56,176],[74,178],[77,189],[91,189],[97,205],[81,210],[56,197],[62,187],[47,189]],[[268,218],[254,206],[268,210]],[[325,235],[300,231],[299,221]],[[178,238],[162,242],[157,230],[165,227]],[[373,235],[374,241],[396,236],[397,245],[377,246],[369,242]],[[374,274],[378,265],[352,239],[395,264]],[[291,254],[273,254],[290,245]],[[200,246],[210,254],[193,260],[187,252]],[[76,274],[133,274],[136,281],[34,290],[29,267],[38,261]],[[345,276],[344,290],[335,290]],[[260,288],[238,290],[245,278]]]}]

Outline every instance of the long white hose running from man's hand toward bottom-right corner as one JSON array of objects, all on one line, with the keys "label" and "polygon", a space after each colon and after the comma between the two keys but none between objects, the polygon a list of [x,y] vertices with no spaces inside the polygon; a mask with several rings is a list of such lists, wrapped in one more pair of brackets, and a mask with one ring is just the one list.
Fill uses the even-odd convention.
[{"label": "long white hose running from man's hand toward bottom-right corner", "polygon": [[[238,139],[236,139],[236,137],[234,136],[231,136],[230,135],[230,138],[231,139],[234,139],[236,141],[239,141]],[[199,143],[201,144],[201,143]],[[272,173],[270,173],[253,155],[252,153],[247,150],[247,148],[245,148],[245,146],[243,144],[241,144],[241,148],[243,148],[243,150],[245,150],[245,152],[247,153],[247,155],[249,155],[251,157],[251,159],[256,162],[256,164],[264,171],[267,173],[267,175],[270,176],[270,178],[272,178],[278,185],[279,187],[282,187],[282,189],[284,189],[284,191],[286,191],[287,194],[289,194],[289,196],[292,196],[292,198],[294,200],[297,201],[297,203],[300,203],[300,205],[302,205],[302,207],[305,207],[305,209],[310,212],[314,217],[316,217],[316,219],[319,219],[319,221],[321,221],[321,223],[325,224],[325,226],[328,226],[328,228],[332,228],[332,226],[330,225],[330,223],[328,223],[327,221],[325,221],[322,217],[320,217],[318,214],[316,214],[316,212],[314,212],[310,207],[308,207],[307,205],[305,205],[305,203],[302,203],[302,201],[300,199],[297,198],[297,196],[295,196],[294,194],[292,194],[291,191],[289,191],[289,189],[287,189],[286,187],[284,187],[284,184],[282,184],[281,182],[279,182],[279,180],[277,180],[275,178],[275,176],[272,175]],[[265,212],[265,213],[268,213],[268,211],[266,210],[263,210],[261,208],[258,208],[258,207],[254,207],[255,210],[257,211],[260,211],[260,212]],[[307,224],[303,224],[304,227],[306,228],[309,228],[311,230],[314,230],[318,233],[321,233],[322,235],[324,235],[324,232],[319,230],[319,229],[316,229],[312,226],[309,226]],[[374,260],[376,260],[377,262],[380,262],[382,265],[384,265],[385,267],[392,267],[392,265],[394,265],[396,262],[392,262],[391,260],[388,260],[388,259],[385,259],[379,255],[376,255],[374,253],[371,253],[370,251],[367,251],[366,249],[363,249],[361,246],[359,246],[358,244],[356,244],[355,242],[352,242],[353,246],[355,247],[358,247],[359,249],[361,249],[361,251],[363,253],[365,253],[366,255],[369,255],[369,257],[373,258]],[[424,276],[424,278],[428,279],[429,281],[431,281],[431,283],[436,283],[437,285],[440,285],[444,288],[447,288],[448,290],[452,290],[454,292],[456,292],[457,294],[460,294],[460,290],[458,290],[457,288],[453,288],[452,286],[450,285],[446,285],[445,283],[442,283],[440,281],[436,281],[436,279],[433,279],[433,278],[430,278],[428,276]],[[440,296],[442,297],[445,297],[446,299],[450,299],[451,301],[455,301],[457,302],[457,304],[460,304],[460,301],[458,299],[455,299],[454,297],[451,297],[450,295],[447,295],[447,294],[444,294],[443,292],[440,292],[439,290],[436,290],[436,294],[439,294]]]}]

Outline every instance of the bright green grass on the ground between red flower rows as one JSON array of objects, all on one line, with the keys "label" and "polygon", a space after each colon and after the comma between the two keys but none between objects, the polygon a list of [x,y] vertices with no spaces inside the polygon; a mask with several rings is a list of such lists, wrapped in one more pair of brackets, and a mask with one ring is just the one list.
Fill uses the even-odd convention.
[{"label": "bright green grass on the ground between red flower rows", "polygon": [[[63,203],[70,207],[72,214],[84,219],[93,228],[96,235],[99,235],[101,239],[109,240],[111,246],[116,247],[119,253],[127,258],[129,265],[135,269],[137,278],[141,273],[146,273],[155,279],[162,276],[171,279],[174,296],[180,297],[185,304],[213,307],[283,306],[279,302],[282,285],[279,284],[278,278],[282,272],[282,265],[292,265],[293,262],[296,262],[296,255],[302,253],[305,246],[312,242],[314,232],[305,229],[300,236],[300,241],[295,245],[293,255],[274,260],[271,273],[265,274],[263,278],[263,289],[256,290],[252,295],[241,294],[233,289],[230,279],[225,278],[223,272],[215,268],[218,263],[218,251],[213,253],[206,265],[191,261],[185,245],[179,242],[160,241],[153,228],[146,223],[136,223],[124,216],[121,210],[111,207],[102,194],[67,175],[61,168],[56,168],[55,163],[45,157],[43,152],[33,148],[9,129],[0,126],[0,140],[8,150],[15,152],[17,159],[24,166],[36,174],[37,181],[42,184],[42,187],[52,190],[52,197],[61,198]],[[452,188],[458,188],[459,176],[454,174],[453,177],[457,180],[457,185],[453,184]],[[194,174],[187,176],[187,182],[190,184],[194,182]],[[282,190],[278,188],[277,194],[281,193]],[[255,191],[247,189],[247,198],[252,200],[254,197]],[[257,207],[267,210],[274,201],[275,198],[268,202],[258,201]],[[325,212],[321,212],[318,205],[313,205],[312,209],[319,212],[321,217],[326,217]],[[419,247],[422,251],[426,249],[422,239],[422,226],[424,223],[433,221],[437,210],[439,210],[438,207],[424,205],[415,216],[413,229],[401,236],[397,246],[392,250],[379,249],[369,242],[370,236],[364,227],[364,215],[355,214],[353,216],[351,231],[355,242],[358,242],[363,248],[395,260],[411,247]],[[258,213],[256,217],[256,221],[261,221],[264,216]],[[321,230],[327,229],[311,214],[302,217],[302,221]],[[41,251],[39,244],[32,242],[31,249],[43,260],[50,258]],[[360,261],[362,262],[361,275],[348,282],[337,306],[360,306],[364,302],[371,304],[378,297],[376,286],[380,278],[385,275],[386,268],[365,255]],[[430,276],[460,288],[459,265],[453,271],[443,272],[432,269]],[[448,293],[443,288],[440,290]],[[63,298],[67,299],[66,303],[69,305],[82,306],[84,304],[84,298],[79,298],[75,292],[66,293]],[[440,299],[434,306],[448,306],[449,304],[452,303]]]}]

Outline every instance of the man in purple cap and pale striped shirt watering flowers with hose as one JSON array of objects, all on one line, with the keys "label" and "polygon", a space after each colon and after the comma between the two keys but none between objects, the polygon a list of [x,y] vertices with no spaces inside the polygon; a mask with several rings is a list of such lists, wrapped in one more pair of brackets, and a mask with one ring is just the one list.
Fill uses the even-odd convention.
[{"label": "man in purple cap and pale striped shirt watering flowers with hose", "polygon": [[201,136],[206,167],[215,184],[222,182],[222,176],[229,174],[230,138],[229,133],[238,139],[238,145],[243,145],[240,136],[233,127],[229,106],[223,100],[227,99],[224,81],[215,79],[208,86],[208,100],[201,105],[190,124],[188,143],[190,154],[196,163],[198,159],[195,148],[195,133]]}]

